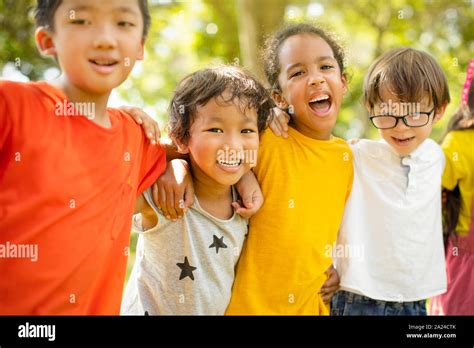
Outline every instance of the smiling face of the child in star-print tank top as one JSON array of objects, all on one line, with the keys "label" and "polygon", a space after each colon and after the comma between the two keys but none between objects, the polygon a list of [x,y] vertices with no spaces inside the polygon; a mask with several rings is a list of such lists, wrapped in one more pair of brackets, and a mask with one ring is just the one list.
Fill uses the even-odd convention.
[{"label": "smiling face of the child in star-print tank top", "polygon": [[197,108],[188,143],[175,142],[190,154],[196,180],[233,185],[256,165],[257,112],[246,109],[244,114],[235,101],[212,98]]}]

